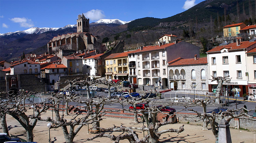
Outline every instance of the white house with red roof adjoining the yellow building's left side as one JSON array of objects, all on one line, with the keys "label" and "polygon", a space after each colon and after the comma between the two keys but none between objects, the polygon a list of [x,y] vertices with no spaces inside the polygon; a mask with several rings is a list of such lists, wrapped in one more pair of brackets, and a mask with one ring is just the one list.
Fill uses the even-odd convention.
[{"label": "white house with red roof adjoining the yellow building's left side", "polygon": [[85,57],[83,59],[83,74],[88,74],[91,79],[101,78],[102,73],[105,73],[101,60],[102,55],[104,54],[96,54],[93,56]]}]

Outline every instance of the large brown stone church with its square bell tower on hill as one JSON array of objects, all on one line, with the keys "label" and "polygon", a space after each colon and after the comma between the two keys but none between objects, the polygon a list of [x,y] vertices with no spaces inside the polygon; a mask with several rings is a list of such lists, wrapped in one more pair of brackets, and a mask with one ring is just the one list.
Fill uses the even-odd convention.
[{"label": "large brown stone church with its square bell tower on hill", "polygon": [[[77,33],[58,35],[47,43],[49,54],[75,53],[80,50],[93,50],[99,46],[101,46],[101,43],[90,33],[89,19],[85,18],[84,14],[78,15]],[[58,54],[58,56],[62,57],[65,55]]]}]

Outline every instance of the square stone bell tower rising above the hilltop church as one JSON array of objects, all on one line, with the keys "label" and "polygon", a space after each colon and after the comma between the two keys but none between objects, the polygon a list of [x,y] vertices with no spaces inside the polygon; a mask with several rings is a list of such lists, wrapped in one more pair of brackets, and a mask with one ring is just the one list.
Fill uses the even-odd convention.
[{"label": "square stone bell tower rising above the hilltop church", "polygon": [[85,18],[84,14],[78,15],[77,21],[77,33],[90,32],[89,18]]}]

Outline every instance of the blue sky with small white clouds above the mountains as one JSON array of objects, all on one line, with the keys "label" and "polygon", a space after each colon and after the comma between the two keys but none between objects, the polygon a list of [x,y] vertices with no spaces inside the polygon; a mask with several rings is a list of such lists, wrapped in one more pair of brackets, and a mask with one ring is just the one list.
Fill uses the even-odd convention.
[{"label": "blue sky with small white clouds above the mountains", "polygon": [[0,0],[0,33],[31,27],[76,24],[84,13],[90,23],[99,19],[130,21],[143,17],[166,18],[203,0]]}]

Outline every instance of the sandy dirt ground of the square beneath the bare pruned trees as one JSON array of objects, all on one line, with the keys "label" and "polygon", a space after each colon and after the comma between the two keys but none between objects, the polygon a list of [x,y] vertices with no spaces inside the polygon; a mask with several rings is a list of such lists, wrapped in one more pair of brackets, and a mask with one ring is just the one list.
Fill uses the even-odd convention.
[{"label": "sandy dirt ground of the square beneath the bare pruned trees", "polygon": [[[29,113],[33,114],[33,110],[28,110]],[[52,116],[51,111],[47,111],[47,113],[44,113],[41,115],[42,118],[46,118],[48,116]],[[67,116],[66,119],[70,119],[72,115]],[[133,120],[131,119],[117,119],[117,118],[109,118],[106,117],[103,119],[103,121],[100,122],[101,127],[112,127],[114,124],[116,126],[120,126],[121,123],[124,126],[131,126],[131,123]],[[37,126],[34,128],[34,141],[38,143],[47,143],[49,142],[49,129],[47,127],[47,124],[49,122],[41,122],[39,121],[37,123]],[[11,116],[7,116],[7,125],[9,126],[9,133],[16,135],[18,137],[26,139],[25,135],[25,129],[17,122],[16,119],[14,119]],[[176,124],[170,124],[160,127],[160,130],[164,130],[167,128],[175,128],[178,129],[179,126],[183,124],[176,123]],[[208,131],[202,131],[202,127],[199,125],[189,125],[184,124],[184,129],[180,134],[177,133],[165,133],[162,134],[160,137],[160,143],[168,143],[168,142],[175,142],[175,143],[215,143],[214,135],[212,134],[211,130]],[[134,127],[140,127],[141,124],[133,125]],[[91,127],[91,125],[89,125]],[[208,126],[209,127],[209,126]],[[0,128],[1,129],[1,128]],[[1,129],[2,131],[2,129]],[[254,143],[256,141],[255,139],[255,132],[253,131],[245,131],[245,130],[239,130],[239,129],[230,129],[231,131],[231,137],[233,143]],[[137,132],[139,134],[139,138],[143,137],[143,132]],[[118,135],[118,133],[114,133],[115,135]],[[119,134],[122,134],[119,132]],[[145,135],[147,132],[145,132]],[[111,141],[109,138],[102,137],[102,138],[96,138],[93,141],[87,141],[86,138],[93,137],[96,134],[88,133],[88,127],[84,126],[78,133],[78,135],[74,138],[75,143],[97,143],[97,142],[104,142],[104,143],[113,143],[114,141]],[[57,129],[51,129],[51,143],[64,143],[65,138],[62,132],[61,128]],[[128,140],[122,140],[120,143],[129,143]]]}]

